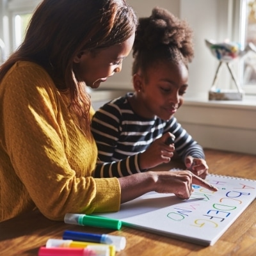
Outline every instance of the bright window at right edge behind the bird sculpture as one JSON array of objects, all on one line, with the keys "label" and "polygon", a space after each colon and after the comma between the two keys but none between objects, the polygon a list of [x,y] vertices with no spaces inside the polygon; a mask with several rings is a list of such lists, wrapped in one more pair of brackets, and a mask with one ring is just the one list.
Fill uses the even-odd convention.
[{"label": "bright window at right edge behind the bird sculpture", "polygon": [[[243,58],[234,61],[238,83],[247,95],[256,95],[256,0],[228,0],[229,39],[245,49],[249,43],[255,52],[249,51]],[[231,87],[234,86],[230,79]]]}]

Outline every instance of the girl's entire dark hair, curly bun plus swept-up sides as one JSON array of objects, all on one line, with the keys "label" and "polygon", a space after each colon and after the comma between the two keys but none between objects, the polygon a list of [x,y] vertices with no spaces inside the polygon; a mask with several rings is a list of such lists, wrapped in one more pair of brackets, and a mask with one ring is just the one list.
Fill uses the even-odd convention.
[{"label": "girl's entire dark hair, curly bun plus swept-up sides", "polygon": [[193,31],[185,20],[156,7],[150,17],[139,19],[132,54],[132,75],[138,70],[146,75],[148,67],[158,61],[188,65],[194,56]]}]

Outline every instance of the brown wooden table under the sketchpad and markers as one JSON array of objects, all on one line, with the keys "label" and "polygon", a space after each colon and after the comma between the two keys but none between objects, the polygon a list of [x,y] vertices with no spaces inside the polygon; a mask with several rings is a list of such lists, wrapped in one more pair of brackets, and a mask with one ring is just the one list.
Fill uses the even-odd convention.
[{"label": "brown wooden table under the sketchpad and markers", "polygon": [[[205,154],[209,172],[256,180],[256,156],[210,149],[205,149]],[[172,164],[180,166],[180,163]],[[38,255],[38,249],[47,239],[61,239],[64,230],[125,236],[125,250],[117,252],[116,256],[250,256],[256,255],[256,202],[249,205],[213,246],[207,247],[128,227],[113,231],[67,225],[48,220],[38,211],[30,212],[0,223],[0,255]]]}]

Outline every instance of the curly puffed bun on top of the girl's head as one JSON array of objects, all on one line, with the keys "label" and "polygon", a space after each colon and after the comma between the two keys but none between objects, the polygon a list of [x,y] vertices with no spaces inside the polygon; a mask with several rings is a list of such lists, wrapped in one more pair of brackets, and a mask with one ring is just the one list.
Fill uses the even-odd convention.
[{"label": "curly puffed bun on top of the girl's head", "polygon": [[170,45],[177,47],[190,61],[193,58],[192,37],[193,31],[185,20],[180,20],[164,8],[155,7],[150,17],[139,19],[133,54]]}]

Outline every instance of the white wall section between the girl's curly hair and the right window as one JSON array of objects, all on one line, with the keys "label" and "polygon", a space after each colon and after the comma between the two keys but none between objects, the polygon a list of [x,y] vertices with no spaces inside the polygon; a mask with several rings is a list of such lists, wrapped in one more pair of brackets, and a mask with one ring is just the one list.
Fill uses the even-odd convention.
[{"label": "white wall section between the girl's curly hair and the right window", "polygon": [[[221,0],[223,3],[225,0]],[[195,58],[189,65],[189,87],[187,97],[198,93],[206,93],[211,87],[216,60],[205,45],[205,38],[223,40],[220,38],[220,28],[226,28],[222,22],[220,26],[221,13],[219,12],[219,1],[212,0],[181,0],[180,18],[188,20],[194,31]],[[225,15],[223,15],[225,16]],[[224,25],[223,25],[224,24]],[[221,42],[221,41],[220,41]]]}]

